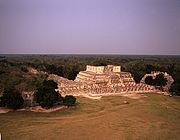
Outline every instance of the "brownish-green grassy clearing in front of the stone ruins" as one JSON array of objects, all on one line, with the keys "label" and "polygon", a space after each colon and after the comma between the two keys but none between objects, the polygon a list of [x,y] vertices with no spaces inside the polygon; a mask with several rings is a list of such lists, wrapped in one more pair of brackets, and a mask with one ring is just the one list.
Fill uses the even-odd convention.
[{"label": "brownish-green grassy clearing in front of the stone ruins", "polygon": [[[129,104],[124,104],[127,100]],[[53,113],[0,114],[4,139],[178,140],[180,98],[148,94],[138,100],[78,97],[79,106]]]}]

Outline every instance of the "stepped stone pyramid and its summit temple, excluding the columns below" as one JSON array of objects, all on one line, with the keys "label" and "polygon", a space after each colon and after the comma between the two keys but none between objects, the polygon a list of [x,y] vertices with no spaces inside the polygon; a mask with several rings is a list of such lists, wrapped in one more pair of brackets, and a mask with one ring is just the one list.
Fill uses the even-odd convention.
[{"label": "stepped stone pyramid and its summit temple, excluding the columns below", "polygon": [[109,85],[109,86],[125,86],[127,84],[134,85],[135,81],[129,72],[121,72],[121,66],[86,66],[86,71],[80,71],[75,81]]}]

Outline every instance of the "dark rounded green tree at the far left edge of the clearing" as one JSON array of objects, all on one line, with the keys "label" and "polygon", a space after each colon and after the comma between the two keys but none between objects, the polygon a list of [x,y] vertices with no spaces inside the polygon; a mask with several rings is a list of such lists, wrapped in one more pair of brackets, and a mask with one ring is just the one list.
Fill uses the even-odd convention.
[{"label": "dark rounded green tree at the far left edge of the clearing", "polygon": [[24,99],[14,87],[5,88],[3,96],[0,97],[1,106],[11,109],[23,107]]}]

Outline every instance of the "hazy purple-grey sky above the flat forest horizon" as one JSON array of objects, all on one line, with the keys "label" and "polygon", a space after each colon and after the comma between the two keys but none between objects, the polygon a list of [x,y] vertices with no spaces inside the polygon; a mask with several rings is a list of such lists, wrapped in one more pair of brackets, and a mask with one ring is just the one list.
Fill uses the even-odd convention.
[{"label": "hazy purple-grey sky above the flat forest horizon", "polygon": [[0,54],[180,55],[180,0],[0,0]]}]

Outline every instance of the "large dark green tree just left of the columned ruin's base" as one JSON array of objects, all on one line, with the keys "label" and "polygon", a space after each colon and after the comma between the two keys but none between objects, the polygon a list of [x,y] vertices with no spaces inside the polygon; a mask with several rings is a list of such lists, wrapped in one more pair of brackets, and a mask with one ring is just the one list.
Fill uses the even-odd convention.
[{"label": "large dark green tree just left of the columned ruin's base", "polygon": [[34,94],[34,100],[43,108],[50,108],[58,102],[63,102],[61,94],[55,89],[57,83],[52,80],[44,81]]}]

